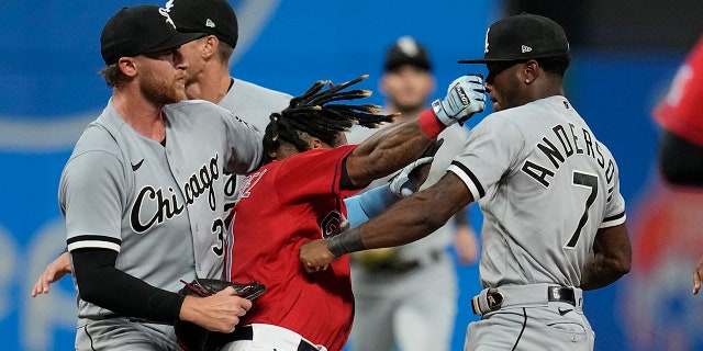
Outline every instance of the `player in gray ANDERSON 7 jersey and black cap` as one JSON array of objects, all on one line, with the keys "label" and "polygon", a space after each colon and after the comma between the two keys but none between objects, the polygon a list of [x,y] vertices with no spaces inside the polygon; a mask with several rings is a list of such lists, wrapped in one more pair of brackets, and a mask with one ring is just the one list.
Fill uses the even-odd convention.
[{"label": "player in gray ANDERSON 7 jersey and black cap", "polygon": [[566,34],[544,16],[509,16],[490,26],[484,58],[460,63],[487,64],[494,113],[448,172],[345,235],[305,244],[301,261],[416,240],[477,200],[484,290],[465,350],[592,350],[582,291],[626,274],[632,249],[615,159],[563,97]]}]

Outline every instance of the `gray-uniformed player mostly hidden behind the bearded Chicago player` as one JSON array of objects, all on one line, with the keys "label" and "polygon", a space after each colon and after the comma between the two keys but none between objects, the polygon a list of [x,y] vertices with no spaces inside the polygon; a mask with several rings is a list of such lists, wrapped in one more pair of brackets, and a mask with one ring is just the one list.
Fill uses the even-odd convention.
[{"label": "gray-uniformed player mostly hidden behind the bearded Chicago player", "polygon": [[[181,45],[181,54],[189,63],[186,69],[188,99],[216,103],[263,133],[268,116],[286,109],[291,97],[230,76],[228,59],[238,38],[237,20],[230,3],[225,0],[171,0],[164,10],[179,32],[205,34]],[[227,215],[237,199],[241,176],[225,171],[222,177],[226,227]],[[221,263],[220,260],[220,268]],[[70,263],[68,254],[63,253],[40,275],[32,296],[48,293],[49,285],[67,273],[70,273]],[[212,273],[210,278],[220,278],[219,270]]]}]

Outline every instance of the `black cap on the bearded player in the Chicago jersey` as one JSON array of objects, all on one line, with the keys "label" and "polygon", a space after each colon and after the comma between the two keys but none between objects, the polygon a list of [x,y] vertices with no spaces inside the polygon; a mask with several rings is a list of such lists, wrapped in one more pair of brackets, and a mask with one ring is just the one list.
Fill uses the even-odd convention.
[{"label": "black cap on the bearded player in the Chicago jersey", "polygon": [[120,57],[178,47],[204,36],[203,33],[176,31],[174,21],[165,9],[156,5],[122,8],[113,14],[100,34],[100,53],[108,65]]}]

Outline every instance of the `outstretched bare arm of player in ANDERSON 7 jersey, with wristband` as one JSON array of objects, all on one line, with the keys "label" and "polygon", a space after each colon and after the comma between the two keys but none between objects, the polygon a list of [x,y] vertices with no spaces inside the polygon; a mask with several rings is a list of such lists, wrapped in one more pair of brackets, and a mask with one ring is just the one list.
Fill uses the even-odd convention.
[{"label": "outstretched bare arm of player in ANDERSON 7 jersey, with wristband", "polygon": [[369,222],[331,239],[304,244],[300,248],[300,259],[306,269],[315,270],[344,253],[419,240],[472,201],[466,184],[447,172],[433,186],[399,201]]}]

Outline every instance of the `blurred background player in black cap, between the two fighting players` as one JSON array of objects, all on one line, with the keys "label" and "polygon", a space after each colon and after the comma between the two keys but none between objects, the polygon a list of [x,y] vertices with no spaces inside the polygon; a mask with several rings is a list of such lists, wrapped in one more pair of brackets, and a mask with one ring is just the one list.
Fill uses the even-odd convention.
[{"label": "blurred background player in black cap, between the two fighting players", "polygon": [[[436,82],[429,54],[423,45],[410,36],[398,38],[387,50],[383,70],[379,89],[386,97],[386,113],[401,113],[394,123],[411,120],[426,109]],[[355,126],[347,140],[359,144],[375,132]],[[439,134],[444,144],[434,157],[423,188],[444,176],[467,137],[468,129],[459,125]],[[376,180],[369,188],[388,183],[389,178]],[[462,216],[465,211],[455,218]],[[476,234],[466,220],[450,220],[433,235],[402,247],[352,256],[356,303],[352,350],[450,349],[458,290],[455,262],[447,251],[453,242],[457,244],[461,261],[472,262],[478,256]],[[427,284],[428,281],[433,283]],[[425,308],[428,299],[433,301],[432,309]]]}]

